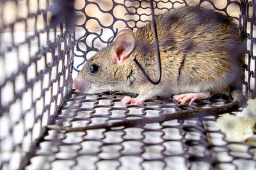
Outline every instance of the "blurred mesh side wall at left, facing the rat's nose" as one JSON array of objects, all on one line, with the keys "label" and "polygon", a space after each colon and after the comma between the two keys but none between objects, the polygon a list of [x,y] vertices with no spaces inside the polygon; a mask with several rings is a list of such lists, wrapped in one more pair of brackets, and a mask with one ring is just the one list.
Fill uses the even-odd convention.
[{"label": "blurred mesh side wall at left, facing the rat's nose", "polygon": [[73,32],[49,27],[49,6],[0,2],[0,169],[26,166],[72,89]]}]

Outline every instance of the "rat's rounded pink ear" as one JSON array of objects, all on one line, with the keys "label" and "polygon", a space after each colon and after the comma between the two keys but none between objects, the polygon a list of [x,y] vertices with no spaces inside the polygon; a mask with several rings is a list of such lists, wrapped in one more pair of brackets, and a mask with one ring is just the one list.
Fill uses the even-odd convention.
[{"label": "rat's rounded pink ear", "polygon": [[128,55],[134,48],[134,38],[132,31],[129,29],[123,29],[118,32],[114,42],[113,56],[116,64],[123,64]]}]

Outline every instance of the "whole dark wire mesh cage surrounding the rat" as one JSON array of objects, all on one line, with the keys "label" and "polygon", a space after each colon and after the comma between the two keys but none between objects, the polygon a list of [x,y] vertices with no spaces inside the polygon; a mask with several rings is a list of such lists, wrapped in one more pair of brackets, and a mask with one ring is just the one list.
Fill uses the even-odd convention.
[{"label": "whole dark wire mesh cage surrounding the rat", "polygon": [[[156,15],[198,5],[234,17],[246,46],[243,92],[255,98],[255,0],[153,4]],[[255,138],[227,141],[213,116],[84,132],[51,128],[157,117],[230,102],[211,98],[180,105],[156,99],[133,106],[122,103],[119,92],[88,96],[72,89],[86,60],[111,43],[118,29],[140,29],[151,18],[148,0],[1,1],[0,169],[256,169]]]}]

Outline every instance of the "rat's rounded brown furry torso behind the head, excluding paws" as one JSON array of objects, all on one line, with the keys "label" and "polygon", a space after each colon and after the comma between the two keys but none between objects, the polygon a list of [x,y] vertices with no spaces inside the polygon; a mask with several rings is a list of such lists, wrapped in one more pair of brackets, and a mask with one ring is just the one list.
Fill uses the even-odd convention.
[{"label": "rat's rounded brown furry torso behind the head, excluding paws", "polygon": [[[220,93],[241,85],[244,51],[239,29],[231,17],[198,7],[183,7],[157,16],[156,25],[162,83],[172,86],[173,94],[205,90]],[[148,53],[141,62],[150,62],[146,69],[157,77],[152,25],[139,29],[134,38],[138,50]]]}]

